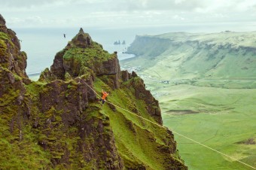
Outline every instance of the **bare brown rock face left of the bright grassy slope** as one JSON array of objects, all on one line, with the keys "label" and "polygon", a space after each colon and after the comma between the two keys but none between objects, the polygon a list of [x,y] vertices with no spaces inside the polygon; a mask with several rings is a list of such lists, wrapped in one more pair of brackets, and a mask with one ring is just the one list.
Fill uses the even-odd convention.
[{"label": "bare brown rock face left of the bright grassy slope", "polygon": [[[110,128],[108,121],[96,117],[89,120],[86,118],[88,103],[90,100],[96,99],[95,94],[90,96],[89,89],[84,86],[83,80],[77,81],[80,83],[72,86],[62,80],[56,80],[48,83],[45,87],[46,90],[40,93],[41,112],[46,115],[51,112],[52,114],[50,114],[51,117],[39,123],[38,129],[46,136],[55,138],[54,141],[62,140],[61,134],[54,133],[59,132],[60,129],[62,129],[63,135],[79,137],[77,143],[73,145],[75,153],[70,153],[72,150],[69,150],[66,145],[59,146],[58,153],[64,153],[64,155],[59,159],[51,159],[51,162],[55,166],[69,164],[72,157],[79,155],[80,159],[84,159],[86,162],[94,162],[96,168],[122,169],[123,164],[117,153],[113,134],[111,130],[106,132],[106,129]],[[63,127],[58,123],[59,119],[62,120]],[[75,132],[72,134],[69,129],[75,129]],[[51,142],[53,139],[50,138],[44,138],[41,141],[42,147],[54,152],[57,146]],[[58,153],[53,154],[57,155]],[[116,164],[116,162],[119,163]]]}]

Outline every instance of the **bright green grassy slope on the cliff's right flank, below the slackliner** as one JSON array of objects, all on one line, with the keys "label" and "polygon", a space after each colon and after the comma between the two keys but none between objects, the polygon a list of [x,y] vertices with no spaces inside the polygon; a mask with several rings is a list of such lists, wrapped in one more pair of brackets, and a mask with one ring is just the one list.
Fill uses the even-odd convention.
[{"label": "bright green grassy slope on the cliff's right flank, below the slackliner", "polygon": [[[96,80],[95,86],[98,92],[102,87],[105,90],[110,90],[110,87],[100,79]],[[111,91],[108,99],[128,111],[136,108],[140,116],[155,121],[146,114],[145,103],[136,99],[133,91],[133,89],[128,90],[126,87],[121,87],[120,90]],[[168,163],[166,160],[170,155],[162,152],[161,148],[168,148],[166,143],[174,142],[171,138],[166,138],[168,136],[166,130],[120,108],[116,109],[113,111],[108,104],[105,104],[102,106],[102,113],[109,117],[117,149],[126,168],[139,168],[139,164],[145,165],[147,169],[165,169],[164,167]],[[178,153],[174,153],[172,159],[180,162]]]}]

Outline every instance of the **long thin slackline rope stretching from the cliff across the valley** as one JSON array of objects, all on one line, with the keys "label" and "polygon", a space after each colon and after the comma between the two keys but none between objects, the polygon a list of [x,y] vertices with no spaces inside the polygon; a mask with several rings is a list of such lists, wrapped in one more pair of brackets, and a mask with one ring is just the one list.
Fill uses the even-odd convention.
[{"label": "long thin slackline rope stretching from the cliff across the valley", "polygon": [[[86,83],[86,82],[84,82],[84,83]],[[87,84],[87,83],[86,83],[86,84]],[[87,86],[90,87],[88,84],[87,84]],[[90,89],[93,90],[92,87],[90,87]],[[101,96],[100,96],[98,93],[96,93],[95,90],[93,90],[93,92],[94,92],[97,96],[99,96],[99,97],[101,98]],[[107,103],[109,103],[109,104],[111,104],[111,105],[114,105],[113,103],[108,102],[107,100],[105,100],[105,102],[107,102]],[[160,124],[154,123],[154,122],[151,121],[151,120],[148,120],[148,119],[146,119],[146,118],[144,118],[144,117],[139,116],[138,114],[134,114],[134,113],[131,112],[131,111],[127,111],[126,109],[121,108],[121,107],[118,106],[118,105],[114,105],[114,106],[117,107],[117,108],[120,108],[120,109],[122,109],[123,111],[126,111],[126,112],[128,112],[128,113],[130,113],[130,114],[133,114],[133,115],[135,115],[136,117],[140,117],[140,118],[142,118],[143,120],[146,120],[146,121],[148,121],[148,122],[150,122],[150,123],[152,123],[152,124],[154,124],[154,125],[160,126],[160,127],[163,128],[163,129],[169,130],[169,129],[168,129],[167,127],[165,127],[165,126],[161,126]],[[196,144],[200,144],[201,146],[206,147],[206,148],[208,148],[209,150],[213,150],[213,151],[215,151],[215,152],[217,152],[217,153],[220,153],[221,155],[227,156],[227,157],[230,158],[230,159],[233,159],[233,160],[235,160],[235,161],[237,161],[237,162],[240,162],[240,163],[242,163],[243,165],[247,165],[247,166],[250,167],[250,168],[256,169],[254,166],[248,165],[247,163],[242,162],[242,161],[240,161],[239,159],[236,159],[236,158],[233,158],[233,157],[231,157],[231,156],[228,156],[227,154],[222,153],[222,152],[220,152],[220,151],[218,151],[218,150],[215,150],[215,149],[213,149],[212,147],[206,146],[205,144],[202,144],[202,143],[200,143],[199,141],[195,141],[194,139],[188,138],[187,136],[181,135],[180,133],[175,132],[175,131],[173,131],[173,130],[171,130],[171,131],[172,131],[173,133],[175,133],[175,134],[177,134],[177,135],[183,137],[183,138],[187,138],[188,140],[193,141],[193,142],[196,143]]]}]

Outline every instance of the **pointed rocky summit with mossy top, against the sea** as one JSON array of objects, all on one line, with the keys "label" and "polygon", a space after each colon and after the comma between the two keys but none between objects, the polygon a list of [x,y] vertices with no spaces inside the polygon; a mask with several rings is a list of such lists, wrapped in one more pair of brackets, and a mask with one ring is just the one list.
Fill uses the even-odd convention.
[{"label": "pointed rocky summit with mossy top, against the sea", "polygon": [[[81,57],[89,61],[82,62],[81,58],[73,54],[65,58],[72,50],[80,51],[79,54],[81,54]],[[94,58],[87,56],[87,53],[90,53],[88,52],[89,50],[93,51],[93,55],[96,55]],[[104,53],[107,52],[102,49],[102,46],[93,42],[90,35],[84,33],[83,29],[81,29],[78,35],[69,42],[64,50],[56,53],[50,71],[52,71],[57,79],[61,80],[65,80],[67,73],[69,73],[71,77],[78,77],[86,72],[90,72],[92,77],[111,75],[111,87],[117,89],[120,87],[118,81],[120,78],[120,65],[117,59],[117,53],[102,58],[101,56],[104,56]]]}]

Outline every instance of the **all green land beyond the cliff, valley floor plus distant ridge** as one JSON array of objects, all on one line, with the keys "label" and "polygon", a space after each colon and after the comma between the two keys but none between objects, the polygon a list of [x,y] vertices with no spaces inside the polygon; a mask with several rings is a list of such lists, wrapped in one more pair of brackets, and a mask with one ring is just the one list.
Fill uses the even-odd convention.
[{"label": "all green land beyond the cliff, valley floor plus distant ridge", "polygon": [[[168,49],[158,49],[155,38]],[[255,42],[256,32],[142,35],[128,49],[136,57],[120,65],[143,77],[160,102],[165,126],[256,167]],[[189,169],[252,169],[175,138]]]}]

